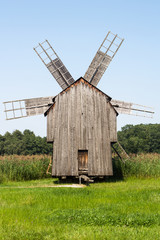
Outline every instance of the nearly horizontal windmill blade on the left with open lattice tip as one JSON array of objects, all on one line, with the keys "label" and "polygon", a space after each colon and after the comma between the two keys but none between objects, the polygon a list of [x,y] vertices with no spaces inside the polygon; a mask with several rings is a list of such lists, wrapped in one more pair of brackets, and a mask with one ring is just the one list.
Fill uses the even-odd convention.
[{"label": "nearly horizontal windmill blade on the left with open lattice tip", "polygon": [[53,98],[40,97],[4,102],[6,120],[43,114],[53,104]]}]

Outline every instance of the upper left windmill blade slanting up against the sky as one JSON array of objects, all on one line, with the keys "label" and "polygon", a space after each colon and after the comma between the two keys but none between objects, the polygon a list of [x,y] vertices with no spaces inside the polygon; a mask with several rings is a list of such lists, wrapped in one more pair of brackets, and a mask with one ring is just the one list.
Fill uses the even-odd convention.
[{"label": "upper left windmill blade slanting up against the sky", "polygon": [[62,89],[69,87],[74,82],[73,77],[47,40],[39,43],[33,49]]}]

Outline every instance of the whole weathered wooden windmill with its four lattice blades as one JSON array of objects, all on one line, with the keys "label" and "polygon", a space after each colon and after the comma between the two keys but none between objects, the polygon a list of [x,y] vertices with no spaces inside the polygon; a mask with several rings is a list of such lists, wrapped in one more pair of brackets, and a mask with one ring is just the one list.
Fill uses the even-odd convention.
[{"label": "whole weathered wooden windmill with its four lattice blades", "polygon": [[112,175],[111,144],[117,141],[118,113],[152,116],[148,107],[113,100],[96,87],[123,40],[108,32],[84,78],[77,81],[50,43],[39,43],[34,50],[62,92],[4,103],[7,120],[47,116],[47,141],[53,143],[52,176]]}]

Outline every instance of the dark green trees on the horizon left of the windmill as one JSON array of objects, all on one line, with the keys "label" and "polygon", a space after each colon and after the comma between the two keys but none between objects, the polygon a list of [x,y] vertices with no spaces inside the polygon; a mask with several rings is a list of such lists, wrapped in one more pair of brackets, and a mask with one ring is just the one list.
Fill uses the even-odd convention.
[{"label": "dark green trees on the horizon left of the windmill", "polygon": [[0,135],[0,155],[35,155],[52,154],[52,144],[48,144],[46,137],[35,136],[34,132],[25,130],[23,133],[15,130]]}]

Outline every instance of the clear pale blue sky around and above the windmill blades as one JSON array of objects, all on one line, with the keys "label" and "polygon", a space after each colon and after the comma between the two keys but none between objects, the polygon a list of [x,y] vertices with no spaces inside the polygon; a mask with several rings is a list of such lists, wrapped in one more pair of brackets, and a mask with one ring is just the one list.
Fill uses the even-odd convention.
[{"label": "clear pale blue sky around and above the windmill blades", "polygon": [[109,30],[125,40],[97,87],[113,99],[155,111],[152,119],[119,115],[118,130],[160,123],[159,0],[0,0],[0,134],[30,129],[46,136],[43,115],[5,120],[4,101],[61,91],[33,47],[48,39],[76,80]]}]

